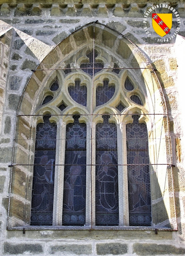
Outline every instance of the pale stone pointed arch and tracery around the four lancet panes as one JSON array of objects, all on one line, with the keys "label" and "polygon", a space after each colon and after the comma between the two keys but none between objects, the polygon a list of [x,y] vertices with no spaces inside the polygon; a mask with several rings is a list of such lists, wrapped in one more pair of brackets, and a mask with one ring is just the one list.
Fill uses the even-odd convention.
[{"label": "pale stone pointed arch and tracery around the four lancet panes", "polygon": [[[129,87],[132,90],[125,87],[127,77],[133,85]],[[57,85],[53,86],[53,90],[54,81],[57,81]],[[83,93],[80,92],[81,88],[84,89]],[[52,100],[42,104],[49,95],[53,97]],[[134,100],[136,96],[141,104]],[[50,113],[51,120],[57,124],[52,227],[62,228],[65,154],[61,152],[65,152],[66,127],[73,123],[72,116],[76,114],[81,116],[79,124],[87,126],[89,158],[86,161],[85,225],[87,228],[89,225],[96,227],[96,124],[102,123],[105,113],[110,115],[110,124],[116,127],[119,138],[119,226],[129,226],[126,124],[132,124],[132,115],[139,113],[139,124],[145,123],[148,130],[151,225],[153,228],[176,227],[165,99],[152,65],[135,44],[115,30],[92,22],[55,46],[36,68],[22,94],[17,112],[8,223],[10,229],[25,225],[29,228],[30,225],[36,126],[45,113]],[[164,183],[166,176],[168,182]],[[20,180],[24,180],[26,186],[20,185]],[[21,210],[14,211],[15,205],[20,205]],[[157,211],[161,208],[163,216],[159,217]]]}]

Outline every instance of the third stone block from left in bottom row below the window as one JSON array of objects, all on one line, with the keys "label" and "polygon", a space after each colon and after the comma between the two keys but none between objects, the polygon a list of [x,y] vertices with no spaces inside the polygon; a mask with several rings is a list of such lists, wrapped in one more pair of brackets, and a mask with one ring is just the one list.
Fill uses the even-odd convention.
[{"label": "third stone block from left in bottom row below the window", "polygon": [[122,244],[122,243],[96,244],[96,252],[98,255],[107,255],[107,254],[122,255],[128,252],[128,244]]}]

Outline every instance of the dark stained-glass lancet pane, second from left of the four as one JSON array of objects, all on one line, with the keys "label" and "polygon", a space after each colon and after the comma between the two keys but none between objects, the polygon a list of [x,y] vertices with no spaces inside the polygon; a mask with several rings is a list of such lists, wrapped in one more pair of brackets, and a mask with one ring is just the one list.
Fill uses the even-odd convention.
[{"label": "dark stained-glass lancet pane, second from left of the four", "polygon": [[66,127],[63,225],[85,224],[86,198],[86,124],[79,123],[80,116],[73,116],[74,123]]}]

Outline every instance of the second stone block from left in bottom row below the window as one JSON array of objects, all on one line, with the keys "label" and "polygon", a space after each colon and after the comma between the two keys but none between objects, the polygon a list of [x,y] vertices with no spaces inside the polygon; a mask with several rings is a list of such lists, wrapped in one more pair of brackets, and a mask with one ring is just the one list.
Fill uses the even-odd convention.
[{"label": "second stone block from left in bottom row below the window", "polygon": [[92,254],[91,244],[70,244],[70,245],[55,245],[51,247],[51,253],[65,253],[65,254]]}]

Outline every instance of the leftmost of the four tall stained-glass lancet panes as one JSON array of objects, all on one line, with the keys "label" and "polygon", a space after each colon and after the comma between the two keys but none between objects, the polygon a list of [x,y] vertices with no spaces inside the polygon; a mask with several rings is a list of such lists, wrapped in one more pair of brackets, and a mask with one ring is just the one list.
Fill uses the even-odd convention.
[{"label": "leftmost of the four tall stained-glass lancet panes", "polygon": [[53,221],[57,125],[49,122],[50,117],[43,116],[44,123],[36,129],[30,222],[35,226],[49,226]]}]

